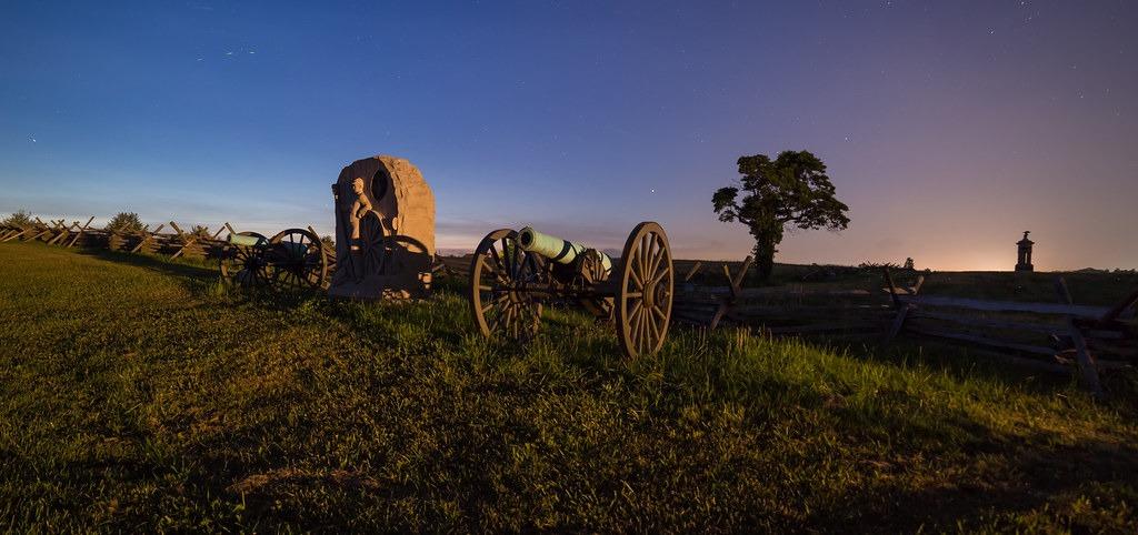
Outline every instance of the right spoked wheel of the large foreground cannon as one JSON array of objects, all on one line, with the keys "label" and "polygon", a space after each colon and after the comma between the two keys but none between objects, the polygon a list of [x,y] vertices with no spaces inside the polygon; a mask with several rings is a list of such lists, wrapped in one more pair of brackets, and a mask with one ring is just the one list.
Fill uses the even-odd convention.
[{"label": "right spoked wheel of the large foreground cannon", "polygon": [[620,256],[616,292],[617,338],[629,358],[663,346],[671,320],[675,275],[668,235],[658,223],[636,225]]}]

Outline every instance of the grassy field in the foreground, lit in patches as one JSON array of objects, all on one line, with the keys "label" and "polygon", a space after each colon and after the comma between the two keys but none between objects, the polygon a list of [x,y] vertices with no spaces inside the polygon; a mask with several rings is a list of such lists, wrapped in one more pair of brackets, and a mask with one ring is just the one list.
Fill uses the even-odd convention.
[{"label": "grassy field in the foreground, lit in patches", "polygon": [[421,303],[0,245],[0,529],[1135,533],[1138,409],[913,342],[626,361]]}]

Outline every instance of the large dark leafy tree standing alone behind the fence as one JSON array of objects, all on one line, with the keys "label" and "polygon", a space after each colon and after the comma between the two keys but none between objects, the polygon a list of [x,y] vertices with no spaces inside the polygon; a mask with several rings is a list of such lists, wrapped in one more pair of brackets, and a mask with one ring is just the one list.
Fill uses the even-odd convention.
[{"label": "large dark leafy tree standing alone behind the fence", "polygon": [[808,151],[783,151],[770,160],[766,154],[741,157],[740,187],[720,187],[711,197],[720,221],[739,221],[754,237],[759,278],[767,281],[774,269],[775,249],[786,225],[798,228],[846,228],[850,219],[844,203],[834,197],[826,165]]}]

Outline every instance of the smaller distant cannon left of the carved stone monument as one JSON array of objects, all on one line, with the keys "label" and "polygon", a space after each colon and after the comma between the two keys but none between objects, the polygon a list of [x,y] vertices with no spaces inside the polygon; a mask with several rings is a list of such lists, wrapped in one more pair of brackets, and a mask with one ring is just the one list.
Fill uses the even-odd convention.
[{"label": "smaller distant cannon left of the carved stone monument", "polygon": [[231,233],[221,251],[221,275],[247,287],[322,289],[329,261],[316,233],[289,228],[271,239]]}]

